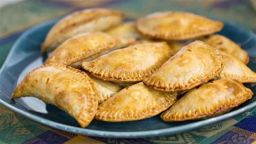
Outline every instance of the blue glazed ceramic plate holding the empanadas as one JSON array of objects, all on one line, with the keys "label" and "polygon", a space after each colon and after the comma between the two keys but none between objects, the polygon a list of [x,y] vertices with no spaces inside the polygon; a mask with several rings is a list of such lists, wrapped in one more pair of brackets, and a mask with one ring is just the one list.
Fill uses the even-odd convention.
[{"label": "blue glazed ceramic plate holding the empanadas", "polygon": [[[57,20],[47,22],[23,33],[15,42],[0,70],[0,103],[31,120],[56,129],[89,136],[150,137],[176,134],[215,124],[256,107],[256,96],[253,96],[251,100],[246,101],[229,113],[201,121],[164,122],[157,115],[152,118],[133,122],[103,122],[93,120],[87,128],[80,128],[74,118],[55,106],[45,105],[45,103],[36,98],[28,97],[11,101],[10,95],[20,80],[23,79],[27,72],[42,65],[47,57],[40,53],[40,45],[44,41],[49,29],[56,22]],[[247,50],[250,55],[248,66],[253,71],[256,71],[255,34],[230,23],[225,23],[225,27],[220,33],[241,44],[242,48]],[[253,87],[253,84],[248,84],[248,86],[256,93],[256,87]]]}]

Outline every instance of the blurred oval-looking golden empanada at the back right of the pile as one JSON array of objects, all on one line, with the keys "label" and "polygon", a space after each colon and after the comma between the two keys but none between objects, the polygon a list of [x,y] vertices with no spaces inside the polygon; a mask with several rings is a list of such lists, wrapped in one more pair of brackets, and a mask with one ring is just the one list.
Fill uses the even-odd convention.
[{"label": "blurred oval-looking golden empanada at the back right of the pile", "polygon": [[164,11],[138,19],[136,27],[146,37],[186,40],[218,32],[223,23],[188,12]]}]

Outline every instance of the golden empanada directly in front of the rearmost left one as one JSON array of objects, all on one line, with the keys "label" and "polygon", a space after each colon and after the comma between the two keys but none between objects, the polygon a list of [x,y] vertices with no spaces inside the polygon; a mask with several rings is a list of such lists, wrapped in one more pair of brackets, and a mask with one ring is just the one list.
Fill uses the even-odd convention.
[{"label": "golden empanada directly in front of the rearmost left one", "polygon": [[112,37],[100,31],[79,34],[55,49],[46,59],[45,64],[56,62],[79,69],[82,68],[82,62],[124,48],[134,41],[135,38]]}]

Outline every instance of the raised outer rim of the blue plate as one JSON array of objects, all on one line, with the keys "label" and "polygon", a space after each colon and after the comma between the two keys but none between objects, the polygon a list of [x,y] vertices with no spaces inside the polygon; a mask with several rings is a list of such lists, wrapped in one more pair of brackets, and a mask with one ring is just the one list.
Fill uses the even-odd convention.
[{"label": "raised outer rim of the blue plate", "polygon": [[[31,27],[30,29],[27,29],[25,32],[23,32],[18,39],[15,41],[14,45],[12,46],[7,58],[4,61],[4,64],[2,65],[1,69],[0,69],[0,76],[2,75],[2,72],[5,68],[5,66],[7,65],[7,62],[10,60],[12,54],[14,53],[15,49],[17,49],[19,43],[21,43],[23,41],[24,38],[27,37],[27,35],[29,35],[30,33],[33,33],[35,30],[40,29],[42,27],[45,27],[47,25],[50,24],[54,24],[58,21],[59,19],[54,19],[54,20],[50,20],[41,24],[38,24],[36,26]],[[230,22],[225,22],[225,24],[230,24],[232,26],[235,26],[237,28],[239,28],[242,31],[245,31],[246,33],[251,33],[252,35],[255,36],[256,38],[256,34],[252,33],[252,31],[246,30],[245,28],[241,27],[241,26],[237,26],[236,24],[232,24]],[[169,134],[177,134],[177,133],[182,133],[182,132],[186,132],[189,130],[193,130],[193,129],[197,129],[197,128],[201,128],[203,126],[207,126],[209,124],[209,122],[211,122],[210,125],[212,124],[216,124],[217,122],[221,122],[223,120],[235,117],[239,114],[242,114],[248,110],[251,110],[253,108],[256,107],[256,101],[252,102],[249,105],[246,105],[244,107],[241,107],[240,109],[231,111],[229,113],[223,114],[223,115],[219,115],[217,117],[213,117],[213,118],[209,118],[206,120],[201,120],[201,121],[196,121],[190,124],[185,124],[185,125],[181,125],[181,126],[175,126],[172,128],[163,128],[163,129],[157,129],[157,130],[145,130],[145,131],[129,131],[129,132],[115,132],[115,131],[105,131],[105,130],[93,130],[93,129],[86,129],[86,128],[79,128],[79,127],[75,127],[75,126],[70,126],[70,125],[65,125],[65,124],[60,124],[58,122],[54,122],[51,120],[48,120],[46,118],[37,116],[35,114],[30,114],[26,111],[23,111],[22,109],[19,109],[18,107],[12,106],[11,104],[4,102],[1,98],[0,98],[0,103],[7,107],[8,109],[12,110],[13,112],[16,112],[20,115],[23,115],[26,118],[29,118],[30,120],[33,120],[35,122],[38,122],[39,124],[43,124],[52,128],[56,128],[59,130],[63,130],[63,131],[67,131],[67,132],[71,132],[71,133],[76,133],[76,134],[83,134],[83,135],[87,135],[87,136],[96,136],[96,137],[112,137],[112,138],[142,138],[142,137],[152,137],[152,136],[163,136],[163,135],[169,135]]]}]

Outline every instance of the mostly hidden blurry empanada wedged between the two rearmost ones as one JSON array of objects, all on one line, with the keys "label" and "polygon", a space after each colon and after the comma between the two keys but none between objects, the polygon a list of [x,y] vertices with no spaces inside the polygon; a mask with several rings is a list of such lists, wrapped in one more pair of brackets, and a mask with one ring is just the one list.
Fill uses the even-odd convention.
[{"label": "mostly hidden blurry empanada wedged between the two rearmost ones", "polygon": [[132,37],[136,39],[142,38],[138,30],[136,29],[135,22],[121,23],[106,30],[105,32],[116,37]]}]

